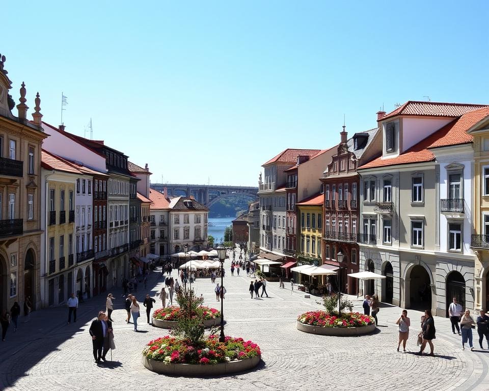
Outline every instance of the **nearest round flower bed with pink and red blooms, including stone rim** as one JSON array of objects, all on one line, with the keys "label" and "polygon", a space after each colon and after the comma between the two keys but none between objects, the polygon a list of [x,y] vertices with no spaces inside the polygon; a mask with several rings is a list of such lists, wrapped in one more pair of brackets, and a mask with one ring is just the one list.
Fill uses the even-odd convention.
[{"label": "nearest round flower bed with pink and red blooms, including stone rim", "polygon": [[240,372],[255,367],[260,347],[242,338],[211,335],[198,346],[166,336],[149,342],[143,350],[143,364],[158,373],[197,376]]}]

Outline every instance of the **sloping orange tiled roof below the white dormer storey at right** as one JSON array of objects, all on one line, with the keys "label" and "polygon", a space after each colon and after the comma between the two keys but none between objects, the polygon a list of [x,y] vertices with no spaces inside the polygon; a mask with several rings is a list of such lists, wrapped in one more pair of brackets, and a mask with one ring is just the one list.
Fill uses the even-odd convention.
[{"label": "sloping orange tiled roof below the white dormer storey at right", "polygon": [[443,128],[421,140],[406,152],[394,158],[378,157],[359,167],[359,170],[373,167],[384,167],[397,164],[421,163],[434,160],[429,148],[447,147],[450,145],[467,144],[472,142],[472,136],[467,134],[472,126],[489,115],[489,107],[471,111]]}]

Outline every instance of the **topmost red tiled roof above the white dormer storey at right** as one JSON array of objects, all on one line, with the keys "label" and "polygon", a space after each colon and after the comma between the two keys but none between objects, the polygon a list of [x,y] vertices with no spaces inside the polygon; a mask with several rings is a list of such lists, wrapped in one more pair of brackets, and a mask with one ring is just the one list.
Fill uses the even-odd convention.
[{"label": "topmost red tiled roof above the white dormer storey at right", "polygon": [[460,117],[469,111],[486,107],[486,104],[471,103],[444,103],[444,102],[419,102],[409,100],[402,106],[379,118],[383,121],[395,116],[434,116],[434,117]]}]

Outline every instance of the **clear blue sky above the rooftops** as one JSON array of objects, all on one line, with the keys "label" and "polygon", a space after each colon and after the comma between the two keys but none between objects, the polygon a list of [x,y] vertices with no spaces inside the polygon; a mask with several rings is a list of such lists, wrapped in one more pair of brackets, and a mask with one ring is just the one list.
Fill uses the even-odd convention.
[{"label": "clear blue sky above the rooftops", "polygon": [[[46,3],[49,3],[46,5]],[[256,185],[285,148],[325,149],[406,100],[489,103],[489,3],[5,2],[17,101],[104,139],[152,182]],[[87,134],[87,136],[89,136]]]}]

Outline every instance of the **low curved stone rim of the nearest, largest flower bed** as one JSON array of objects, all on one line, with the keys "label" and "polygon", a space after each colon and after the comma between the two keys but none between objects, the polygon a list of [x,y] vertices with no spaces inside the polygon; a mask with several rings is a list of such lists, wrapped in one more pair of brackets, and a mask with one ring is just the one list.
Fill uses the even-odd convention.
[{"label": "low curved stone rim of the nearest, largest flower bed", "polygon": [[218,376],[229,373],[248,371],[255,368],[261,360],[261,356],[244,360],[220,362],[215,365],[200,364],[165,364],[143,356],[143,365],[150,371],[173,376],[198,377]]}]

